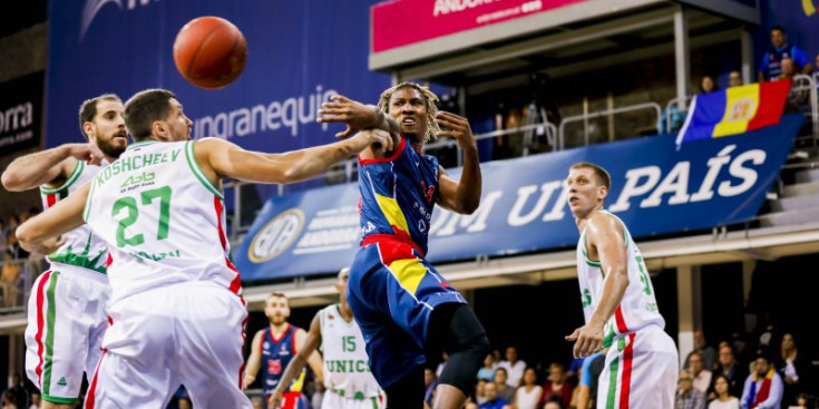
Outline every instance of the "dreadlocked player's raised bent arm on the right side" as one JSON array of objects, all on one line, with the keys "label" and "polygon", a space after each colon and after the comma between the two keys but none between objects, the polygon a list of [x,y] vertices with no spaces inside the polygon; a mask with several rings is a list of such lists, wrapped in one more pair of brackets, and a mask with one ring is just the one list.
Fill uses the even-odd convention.
[{"label": "dreadlocked player's raised bent arm on the right side", "polygon": [[440,172],[438,177],[440,189],[438,204],[456,213],[472,214],[480,205],[482,185],[478,145],[475,143],[472,129],[469,127],[467,118],[446,111],[439,111],[436,121],[447,129],[439,130],[438,136],[456,138],[464,150],[464,171],[460,174],[460,181],[455,182],[443,172]]}]

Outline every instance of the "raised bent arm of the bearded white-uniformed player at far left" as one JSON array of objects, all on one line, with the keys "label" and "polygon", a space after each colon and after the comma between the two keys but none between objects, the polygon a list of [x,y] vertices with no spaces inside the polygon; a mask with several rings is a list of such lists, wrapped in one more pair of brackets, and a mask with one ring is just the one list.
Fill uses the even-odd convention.
[{"label": "raised bent arm of the bearded white-uniformed player at far left", "polygon": [[56,148],[20,156],[2,175],[2,184],[10,192],[22,192],[68,177],[77,160],[98,165],[103,153],[92,144],[67,144]]}]

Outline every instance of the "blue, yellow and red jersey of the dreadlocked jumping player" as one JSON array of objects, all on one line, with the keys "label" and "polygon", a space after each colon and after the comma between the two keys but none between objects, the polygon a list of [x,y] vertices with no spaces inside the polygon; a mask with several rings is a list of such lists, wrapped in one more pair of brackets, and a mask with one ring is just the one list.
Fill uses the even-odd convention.
[{"label": "blue, yellow and red jersey of the dreadlocked jumping player", "polygon": [[401,137],[390,157],[359,158],[359,207],[363,244],[398,240],[427,254],[432,207],[438,198],[438,159],[416,152]]}]

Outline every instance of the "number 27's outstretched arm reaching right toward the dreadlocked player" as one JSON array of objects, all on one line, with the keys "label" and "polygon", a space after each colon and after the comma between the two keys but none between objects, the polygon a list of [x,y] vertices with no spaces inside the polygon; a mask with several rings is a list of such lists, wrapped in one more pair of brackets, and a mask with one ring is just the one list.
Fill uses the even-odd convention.
[{"label": "number 27's outstretched arm reaching right toward the dreadlocked player", "polygon": [[318,176],[373,143],[380,143],[387,149],[392,148],[392,142],[387,134],[361,132],[334,144],[284,154],[245,150],[227,140],[205,138],[195,143],[194,153],[205,175],[217,186],[222,177],[286,184]]}]

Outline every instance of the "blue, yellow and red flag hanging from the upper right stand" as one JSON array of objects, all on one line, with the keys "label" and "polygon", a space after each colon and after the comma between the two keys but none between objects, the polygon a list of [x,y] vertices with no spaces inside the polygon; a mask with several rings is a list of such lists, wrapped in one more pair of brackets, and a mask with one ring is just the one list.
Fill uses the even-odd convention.
[{"label": "blue, yellow and red flag hanging from the upper right stand", "polygon": [[791,80],[751,84],[700,94],[676,137],[676,147],[691,140],[742,134],[779,124]]}]

